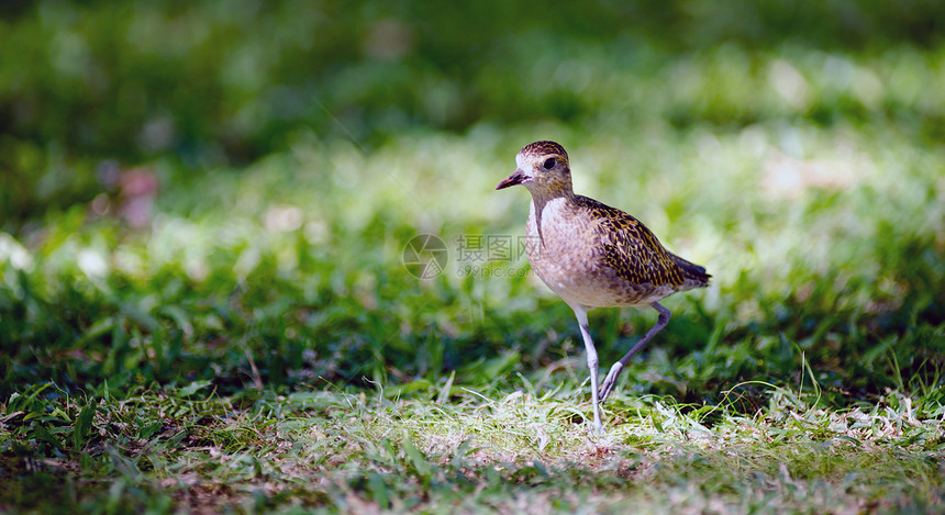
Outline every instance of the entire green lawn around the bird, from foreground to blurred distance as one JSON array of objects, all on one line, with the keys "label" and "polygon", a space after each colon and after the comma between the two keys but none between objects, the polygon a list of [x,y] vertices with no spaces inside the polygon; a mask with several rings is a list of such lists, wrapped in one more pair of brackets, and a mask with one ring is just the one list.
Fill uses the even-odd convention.
[{"label": "entire green lawn around the bird, from foreground to blurred distance", "polygon": [[[696,11],[680,42],[621,36],[620,16],[600,41],[536,19],[467,48],[434,24],[397,75],[316,57],[403,13],[365,8],[296,48],[313,12],[259,29],[252,10],[194,5],[205,16],[180,7],[179,25],[167,5],[125,22],[68,2],[0,25],[18,59],[68,47],[56,37],[88,53],[0,65],[29,70],[0,81],[20,116],[0,137],[0,511],[942,511],[945,52],[894,37],[912,11],[879,43],[857,34],[882,5],[790,41],[747,22],[722,41],[731,22]],[[763,27],[782,20],[757,5]],[[97,60],[134,20],[137,46]],[[257,31],[273,23],[287,40],[270,47]],[[167,26],[185,36],[160,57]],[[311,75],[277,66],[279,45]],[[456,65],[476,48],[490,66]],[[268,75],[223,69],[259,59]],[[113,82],[74,93],[63,76],[96,70]],[[163,74],[191,88],[170,94]],[[98,109],[114,85],[146,112]],[[57,92],[42,109],[62,119],[26,109],[31,91]],[[322,103],[289,115],[259,91]],[[148,146],[162,116],[175,137]],[[568,149],[579,193],[713,275],[666,301],[602,436],[567,305],[522,256],[460,259],[524,233],[527,193],[492,188],[540,138]],[[426,280],[402,262],[422,233],[449,253]],[[602,368],[654,320],[591,312]]]}]

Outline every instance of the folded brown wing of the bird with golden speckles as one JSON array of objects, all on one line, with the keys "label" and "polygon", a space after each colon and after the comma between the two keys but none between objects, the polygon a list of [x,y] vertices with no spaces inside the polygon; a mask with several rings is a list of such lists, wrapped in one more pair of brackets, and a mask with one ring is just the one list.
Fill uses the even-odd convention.
[{"label": "folded brown wing of the bird with golden speckles", "polygon": [[674,255],[638,220],[587,197],[579,197],[579,203],[598,220],[594,232],[603,248],[602,258],[619,277],[633,284],[678,287],[685,282]]}]

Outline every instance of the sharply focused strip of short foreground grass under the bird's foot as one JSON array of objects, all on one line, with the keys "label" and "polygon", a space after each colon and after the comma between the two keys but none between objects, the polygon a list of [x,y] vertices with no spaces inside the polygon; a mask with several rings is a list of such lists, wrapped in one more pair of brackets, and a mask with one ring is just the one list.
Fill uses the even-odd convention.
[{"label": "sharply focused strip of short foreground grass under the bird's foot", "polygon": [[[890,393],[836,412],[774,389],[764,410],[743,415],[731,404],[619,395],[610,430],[594,436],[582,390],[522,380],[509,394],[454,385],[448,402],[437,401],[442,388],[411,400],[380,390],[265,392],[245,406],[205,388],[85,406],[60,396],[4,423],[87,430],[67,432],[75,445],[58,458],[4,458],[16,478],[5,499],[40,511],[280,513],[861,513],[942,502],[941,405]],[[69,422],[86,413],[89,423]],[[51,488],[62,494],[51,499]]]}]

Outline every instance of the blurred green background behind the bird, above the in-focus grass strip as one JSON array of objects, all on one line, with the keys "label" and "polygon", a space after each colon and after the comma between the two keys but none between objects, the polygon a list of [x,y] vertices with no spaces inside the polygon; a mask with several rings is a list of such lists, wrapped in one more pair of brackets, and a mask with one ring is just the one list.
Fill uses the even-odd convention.
[{"label": "blurred green background behind the bird, above the in-focus grass strip", "polygon": [[[0,7],[0,394],[55,381],[514,384],[568,356],[516,236],[532,141],[714,276],[632,392],[941,401],[945,4],[14,1]],[[418,233],[447,270],[401,264]],[[493,269],[524,262],[482,262]],[[598,310],[601,361],[652,314]],[[581,370],[580,365],[576,365]],[[553,369],[554,367],[552,367]],[[581,376],[582,377],[582,376]],[[504,382],[503,382],[504,381]]]}]

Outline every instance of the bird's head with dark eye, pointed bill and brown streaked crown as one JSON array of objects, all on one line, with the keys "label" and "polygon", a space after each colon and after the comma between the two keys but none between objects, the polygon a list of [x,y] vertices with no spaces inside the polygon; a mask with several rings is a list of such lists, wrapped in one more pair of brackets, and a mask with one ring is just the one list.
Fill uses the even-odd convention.
[{"label": "bird's head with dark eye, pointed bill and brown streaked crown", "polygon": [[571,168],[568,153],[555,142],[535,142],[519,150],[518,169],[499,182],[497,190],[522,184],[542,197],[571,193]]}]

